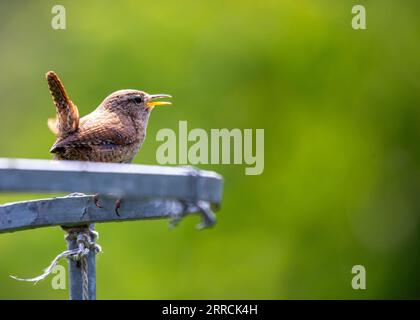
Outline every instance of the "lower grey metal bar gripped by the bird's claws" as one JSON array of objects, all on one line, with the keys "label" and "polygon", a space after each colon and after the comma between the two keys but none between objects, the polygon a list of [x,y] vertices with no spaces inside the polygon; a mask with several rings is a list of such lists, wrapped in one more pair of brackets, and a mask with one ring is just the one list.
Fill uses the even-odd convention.
[{"label": "lower grey metal bar gripped by the bird's claws", "polygon": [[193,203],[177,199],[122,199],[115,212],[117,197],[67,197],[16,202],[0,206],[0,233],[48,227],[91,224],[95,222],[176,218],[202,210]]}]

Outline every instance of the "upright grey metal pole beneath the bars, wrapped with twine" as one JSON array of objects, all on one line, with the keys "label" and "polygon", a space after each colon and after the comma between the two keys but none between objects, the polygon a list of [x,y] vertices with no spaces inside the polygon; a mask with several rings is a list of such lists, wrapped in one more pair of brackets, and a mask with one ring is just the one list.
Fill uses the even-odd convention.
[{"label": "upright grey metal pole beneath the bars, wrapped with twine", "polygon": [[[90,229],[94,230],[94,225],[90,225]],[[74,228],[72,228],[74,230]],[[66,237],[67,247],[69,250],[77,249],[77,240],[74,237]],[[96,252],[90,250],[87,256],[88,270],[88,300],[96,300]],[[69,259],[69,291],[70,300],[83,300],[83,277],[82,264],[80,261]]]}]

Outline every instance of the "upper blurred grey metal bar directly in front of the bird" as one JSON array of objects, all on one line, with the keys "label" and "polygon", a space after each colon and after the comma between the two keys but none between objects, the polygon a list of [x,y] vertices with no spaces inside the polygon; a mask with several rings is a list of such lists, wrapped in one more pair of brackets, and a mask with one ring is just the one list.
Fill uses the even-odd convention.
[{"label": "upper blurred grey metal bar directly in front of the bird", "polygon": [[222,177],[190,167],[0,158],[0,191],[83,192],[220,203]]}]

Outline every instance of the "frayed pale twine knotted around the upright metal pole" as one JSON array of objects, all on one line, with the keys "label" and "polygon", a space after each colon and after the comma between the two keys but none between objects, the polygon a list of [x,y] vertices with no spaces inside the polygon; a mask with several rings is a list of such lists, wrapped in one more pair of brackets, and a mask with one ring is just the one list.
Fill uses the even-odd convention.
[{"label": "frayed pale twine knotted around the upright metal pole", "polygon": [[72,259],[73,261],[80,262],[80,266],[82,269],[82,281],[83,281],[83,300],[88,300],[88,265],[87,265],[87,255],[91,250],[96,253],[102,252],[102,248],[100,245],[96,243],[96,239],[98,238],[98,233],[90,230],[89,226],[83,227],[63,227],[63,229],[67,232],[65,239],[67,241],[75,240],[77,243],[77,248],[73,250],[65,250],[58,254],[50,265],[44,269],[44,272],[34,278],[19,278],[16,276],[10,276],[11,278],[18,280],[18,281],[27,281],[27,282],[34,282],[37,284],[39,281],[44,280],[48,277],[52,271],[54,270],[55,266],[60,262],[61,259],[67,258]]}]

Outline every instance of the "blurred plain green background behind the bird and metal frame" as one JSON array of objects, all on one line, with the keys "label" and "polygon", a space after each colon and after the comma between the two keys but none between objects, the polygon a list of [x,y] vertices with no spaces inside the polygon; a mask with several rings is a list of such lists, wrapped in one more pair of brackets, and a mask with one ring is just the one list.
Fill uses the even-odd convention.
[{"label": "blurred plain green background behind the bird and metal frame", "polygon": [[[48,70],[82,115],[118,89],[174,96],[135,163],[156,164],[156,132],[179,120],[265,130],[262,175],[200,166],[225,179],[216,228],[97,225],[99,299],[420,298],[420,2],[60,1],[66,30],[54,4],[1,1],[0,157],[51,158]],[[351,28],[354,4],[367,30]],[[0,298],[66,299],[51,278],[9,278],[64,244],[60,228],[1,234]]]}]

